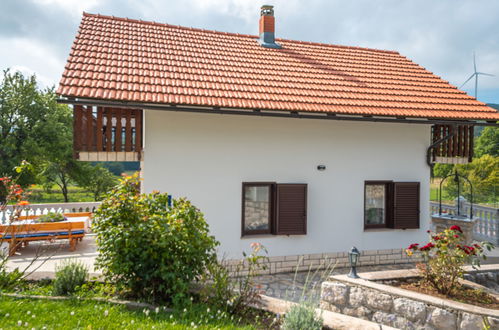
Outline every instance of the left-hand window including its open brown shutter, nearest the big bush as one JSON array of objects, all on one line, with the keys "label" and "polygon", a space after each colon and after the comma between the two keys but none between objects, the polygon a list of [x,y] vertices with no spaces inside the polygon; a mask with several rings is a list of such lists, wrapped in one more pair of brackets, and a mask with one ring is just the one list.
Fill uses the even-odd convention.
[{"label": "left-hand window including its open brown shutter, nearest the big bush", "polygon": [[304,235],[306,220],[306,184],[243,183],[242,236]]}]

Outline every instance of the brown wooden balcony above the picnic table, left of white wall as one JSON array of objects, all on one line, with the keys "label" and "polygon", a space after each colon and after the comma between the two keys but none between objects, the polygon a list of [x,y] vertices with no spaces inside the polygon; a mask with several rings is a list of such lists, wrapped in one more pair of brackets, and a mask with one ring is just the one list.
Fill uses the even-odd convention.
[{"label": "brown wooden balcony above the picnic table, left of white wall", "polygon": [[75,105],[73,150],[82,161],[139,161],[142,110]]}]

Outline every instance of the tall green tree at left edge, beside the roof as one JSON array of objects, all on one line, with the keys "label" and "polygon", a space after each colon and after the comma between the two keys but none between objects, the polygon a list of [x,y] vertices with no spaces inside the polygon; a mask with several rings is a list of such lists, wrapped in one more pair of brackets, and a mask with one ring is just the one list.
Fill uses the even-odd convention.
[{"label": "tall green tree at left edge, beside the roof", "polygon": [[73,159],[71,109],[57,103],[54,89],[39,90],[35,76],[4,71],[0,134],[0,174],[12,176],[14,166],[27,160],[34,171],[21,184],[56,184],[68,202],[68,186],[83,167]]}]

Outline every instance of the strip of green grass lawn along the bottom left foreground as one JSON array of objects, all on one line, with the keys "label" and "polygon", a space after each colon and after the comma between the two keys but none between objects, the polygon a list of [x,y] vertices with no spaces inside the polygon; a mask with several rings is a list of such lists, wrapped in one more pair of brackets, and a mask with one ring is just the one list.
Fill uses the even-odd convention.
[{"label": "strip of green grass lawn along the bottom left foreground", "polygon": [[124,306],[82,300],[50,301],[0,297],[0,328],[36,329],[255,329],[230,316],[193,305],[183,311],[130,311]]}]

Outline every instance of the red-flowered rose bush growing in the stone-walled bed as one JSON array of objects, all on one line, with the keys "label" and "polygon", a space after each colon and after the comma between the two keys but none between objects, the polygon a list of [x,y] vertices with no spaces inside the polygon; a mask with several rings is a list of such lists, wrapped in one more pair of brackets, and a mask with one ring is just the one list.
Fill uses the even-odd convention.
[{"label": "red-flowered rose bush growing in the stone-walled bed", "polygon": [[464,277],[463,266],[480,266],[480,259],[486,259],[484,250],[494,248],[490,242],[475,243],[471,246],[463,243],[463,231],[457,225],[440,233],[428,230],[430,241],[420,246],[417,243],[407,247],[406,253],[412,256],[419,252],[424,263],[417,265],[421,272],[422,284],[429,285],[439,293],[452,295],[460,288],[459,280]]}]

